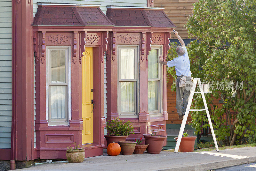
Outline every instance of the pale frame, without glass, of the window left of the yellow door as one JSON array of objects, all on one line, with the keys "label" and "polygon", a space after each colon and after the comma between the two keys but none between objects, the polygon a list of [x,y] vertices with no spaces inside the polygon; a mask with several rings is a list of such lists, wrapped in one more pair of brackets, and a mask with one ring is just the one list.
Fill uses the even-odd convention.
[{"label": "pale frame, without glass, of the window left of the yellow door", "polygon": [[[51,73],[50,73],[50,50],[67,50],[66,59],[66,80],[67,83],[51,83]],[[45,62],[45,72],[46,72],[46,120],[48,125],[69,125],[69,120],[71,119],[71,46],[46,46],[46,62]],[[65,119],[51,119],[50,117],[50,86],[52,85],[67,85],[67,99],[66,99],[66,109],[65,114],[67,118]]]}]

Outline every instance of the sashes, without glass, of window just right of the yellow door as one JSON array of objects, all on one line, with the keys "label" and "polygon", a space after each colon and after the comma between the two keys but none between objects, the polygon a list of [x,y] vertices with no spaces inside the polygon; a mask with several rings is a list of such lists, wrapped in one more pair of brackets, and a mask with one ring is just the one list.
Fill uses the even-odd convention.
[{"label": "sashes, without glass, of window just right of the yellow door", "polygon": [[[118,46],[118,113],[122,117],[134,117],[135,115],[138,115],[138,46]],[[122,61],[121,61],[121,49],[134,49],[134,79],[121,79],[121,67],[122,67]],[[123,69],[122,69],[123,70]],[[124,71],[124,70],[123,70]],[[122,82],[134,82],[134,105],[132,108],[134,108],[134,111],[122,111],[122,102],[121,102],[121,83]],[[124,104],[124,103],[123,103]]]}]

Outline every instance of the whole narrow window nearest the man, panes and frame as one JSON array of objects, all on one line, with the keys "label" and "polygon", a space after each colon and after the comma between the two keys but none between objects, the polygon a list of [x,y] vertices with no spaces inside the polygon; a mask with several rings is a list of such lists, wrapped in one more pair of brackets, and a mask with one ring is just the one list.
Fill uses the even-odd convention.
[{"label": "whole narrow window nearest the man, panes and frame", "polygon": [[148,55],[148,112],[150,114],[161,113],[161,65],[159,55],[161,46],[152,46]]}]

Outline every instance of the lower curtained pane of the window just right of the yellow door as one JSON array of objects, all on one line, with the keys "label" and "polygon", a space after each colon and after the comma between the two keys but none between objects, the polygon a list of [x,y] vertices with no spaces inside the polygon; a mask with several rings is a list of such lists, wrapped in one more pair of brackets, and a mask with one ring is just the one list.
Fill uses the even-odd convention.
[{"label": "lower curtained pane of the window just right of the yellow door", "polygon": [[120,108],[121,112],[135,112],[135,82],[120,82]]}]

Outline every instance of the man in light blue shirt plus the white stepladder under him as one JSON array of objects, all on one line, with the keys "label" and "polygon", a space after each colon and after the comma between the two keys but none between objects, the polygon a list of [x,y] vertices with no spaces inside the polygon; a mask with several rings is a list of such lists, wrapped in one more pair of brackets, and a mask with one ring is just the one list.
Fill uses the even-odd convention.
[{"label": "man in light blue shirt plus the white stepladder under him", "polygon": [[[180,126],[180,132],[178,135],[174,152],[178,152],[178,149],[180,147],[180,142],[181,142],[182,134],[186,125],[189,111],[206,111],[208,122],[212,131],[212,138],[214,141],[214,145],[216,147],[216,150],[219,151],[214,130],[212,127],[211,117],[210,117],[209,110],[208,110],[205,96],[204,96],[204,93],[211,93],[211,92],[204,92],[200,78],[194,78],[192,82],[187,48],[185,46],[184,41],[180,38],[178,32],[173,30],[173,33],[179,39],[180,44],[182,46],[182,47],[179,46],[178,48],[176,48],[178,57],[172,59],[171,61],[164,62],[163,55],[160,55],[159,62],[164,65],[167,65],[168,67],[175,66],[176,75],[178,76],[176,79],[176,108],[179,114],[179,119],[182,120],[182,123]],[[200,88],[200,92],[195,92],[197,82]],[[190,90],[191,90],[191,96],[190,96]],[[201,93],[204,101],[204,109],[190,109],[194,93]]]}]

